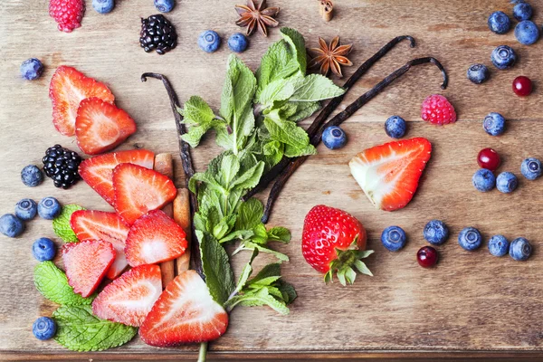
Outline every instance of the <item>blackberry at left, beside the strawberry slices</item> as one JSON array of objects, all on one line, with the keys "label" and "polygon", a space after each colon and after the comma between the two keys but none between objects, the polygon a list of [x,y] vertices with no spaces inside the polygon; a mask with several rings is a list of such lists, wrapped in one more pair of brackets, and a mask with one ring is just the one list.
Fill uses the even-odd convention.
[{"label": "blackberry at left, beside the strawberry slices", "polygon": [[47,148],[42,161],[45,175],[52,178],[56,187],[69,188],[81,178],[78,172],[81,157],[68,148],[61,145]]}]

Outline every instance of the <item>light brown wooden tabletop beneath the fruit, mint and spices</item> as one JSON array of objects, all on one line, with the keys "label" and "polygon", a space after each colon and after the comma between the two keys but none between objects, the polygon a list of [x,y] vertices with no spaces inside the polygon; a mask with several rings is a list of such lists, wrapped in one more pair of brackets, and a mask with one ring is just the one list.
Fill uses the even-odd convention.
[{"label": "light brown wooden tabletop beneath the fruit, mint and spices", "polygon": [[[83,182],[63,191],[54,188],[50,180],[36,188],[25,187],[19,180],[21,169],[40,164],[45,149],[55,143],[77,149],[73,138],[61,136],[52,127],[48,99],[52,72],[68,64],[110,85],[118,106],[138,122],[138,133],[121,148],[176,153],[176,130],[166,92],[160,82],[141,83],[139,76],[144,71],[162,72],[176,87],[181,101],[197,94],[217,109],[230,52],[225,44],[214,54],[202,52],[196,38],[206,29],[216,30],[224,39],[240,31],[234,24],[237,15],[233,5],[243,1],[177,0],[175,11],[167,17],[176,24],[179,45],[164,56],[147,54],[138,44],[139,18],[156,13],[151,0],[118,0],[113,13],[106,16],[95,13],[89,0],[82,27],[73,33],[56,29],[47,14],[47,3],[0,2],[0,210],[10,213],[23,197],[40,200],[48,195],[63,204],[110,210]],[[309,47],[317,45],[318,36],[329,40],[336,34],[344,43],[353,43],[350,58],[356,65],[396,35],[413,35],[417,41],[413,50],[407,43],[399,44],[376,64],[349,93],[340,110],[387,73],[418,56],[432,55],[443,62],[451,77],[450,87],[440,90],[441,75],[433,66],[413,69],[348,120],[346,148],[332,152],[319,147],[319,156],[310,157],[291,177],[270,225],[284,225],[292,231],[292,242],[278,249],[291,257],[282,270],[285,279],[296,286],[299,298],[287,317],[267,308],[234,310],[230,328],[211,345],[210,356],[543,358],[543,181],[528,182],[519,174],[523,158],[543,157],[539,136],[543,132],[543,41],[520,46],[512,31],[496,35],[488,30],[491,11],[511,14],[512,5],[506,1],[336,3],[337,14],[326,24],[319,18],[316,0],[269,0],[269,5],[281,6],[281,25],[298,29]],[[541,5],[536,6],[535,20],[537,24],[543,22]],[[271,30],[268,39],[252,36],[250,50],[241,58],[255,70],[265,49],[279,38],[278,29]],[[491,51],[500,44],[511,44],[519,53],[519,63],[510,71],[491,66]],[[39,81],[19,78],[19,65],[29,57],[40,58],[46,65]],[[490,81],[476,86],[466,79],[465,72],[473,62],[489,65]],[[345,69],[347,75],[354,70]],[[528,75],[536,84],[535,93],[527,99],[511,91],[511,81],[519,74]],[[420,104],[432,93],[442,93],[452,101],[459,114],[456,124],[433,127],[420,119]],[[481,119],[491,111],[501,112],[509,120],[508,130],[500,138],[492,138],[481,129]],[[369,204],[350,176],[347,163],[358,151],[389,140],[383,123],[393,114],[410,121],[409,137],[424,136],[432,141],[433,156],[413,202],[404,210],[386,213]],[[304,123],[309,124],[309,120]],[[520,176],[515,193],[503,195],[493,190],[481,194],[473,189],[476,156],[487,147],[500,153],[501,171]],[[193,152],[197,169],[204,170],[218,152],[209,140],[197,148]],[[176,174],[176,184],[181,186],[178,157]],[[303,217],[317,204],[341,207],[366,226],[369,247],[376,250],[367,261],[375,277],[359,277],[356,285],[348,288],[339,283],[325,286],[322,277],[303,260]],[[422,230],[432,218],[449,224],[452,237],[439,247],[439,265],[424,270],[414,255],[425,244]],[[409,236],[403,252],[386,252],[379,243],[381,231],[391,224],[402,226]],[[37,237],[54,234],[51,223],[45,220],[36,219],[27,226],[27,232],[17,239],[0,238],[0,358],[195,359],[195,348],[149,348],[138,338],[125,347],[92,354],[71,353],[55,342],[33,338],[33,320],[50,315],[56,307],[33,287],[36,262],[30,247]],[[465,226],[480,228],[485,239],[496,233],[510,239],[525,236],[534,244],[535,252],[529,262],[494,258],[486,246],[477,252],[464,252],[456,237]],[[247,257],[234,258],[237,271]],[[445,355],[452,351],[454,354]]]}]

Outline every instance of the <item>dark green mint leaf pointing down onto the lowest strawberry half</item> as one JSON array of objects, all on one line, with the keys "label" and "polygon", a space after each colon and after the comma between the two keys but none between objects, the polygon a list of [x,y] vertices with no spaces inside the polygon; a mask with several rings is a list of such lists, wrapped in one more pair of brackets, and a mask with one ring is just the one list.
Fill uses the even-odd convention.
[{"label": "dark green mint leaf pointing down onto the lowest strawberry half", "polygon": [[235,289],[233,272],[230,267],[228,254],[223,246],[209,233],[196,231],[200,242],[200,255],[202,256],[202,269],[205,274],[205,283],[213,299],[220,305],[228,300]]}]

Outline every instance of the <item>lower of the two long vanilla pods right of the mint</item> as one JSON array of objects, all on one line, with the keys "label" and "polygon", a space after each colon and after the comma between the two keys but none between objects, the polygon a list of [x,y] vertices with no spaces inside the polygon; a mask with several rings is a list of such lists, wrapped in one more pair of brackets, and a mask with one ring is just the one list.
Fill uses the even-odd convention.
[{"label": "lower of the two long vanilla pods right of the mint", "polygon": [[[427,63],[434,64],[442,72],[443,83],[441,85],[441,88],[443,90],[446,89],[449,83],[449,77],[447,76],[447,72],[443,68],[443,65],[440,62],[438,62],[435,58],[432,58],[432,57],[417,58],[412,61],[406,62],[404,66],[393,71],[383,81],[380,81],[374,88],[372,88],[371,90],[368,90],[365,94],[360,96],[357,100],[349,104],[348,107],[345,110],[343,110],[341,113],[338,113],[334,118],[330,119],[326,124],[321,125],[319,130],[311,137],[310,139],[311,144],[313,146],[317,146],[320,142],[320,138],[322,136],[322,132],[324,129],[330,126],[339,126],[349,117],[351,117],[357,110],[359,110],[365,104],[367,104],[368,101],[372,100],[374,97],[376,97],[377,94],[385,90],[388,85],[390,85],[396,79],[400,78],[407,71],[409,71],[412,67],[416,65],[427,64]],[[275,181],[275,184],[273,184],[273,186],[271,187],[270,195],[268,197],[268,201],[264,209],[264,215],[262,216],[262,223],[266,224],[268,222],[268,219],[270,218],[270,214],[271,214],[271,209],[273,207],[273,204],[277,200],[277,197],[281,193],[282,187],[285,186],[285,184],[287,183],[291,175],[294,173],[294,171],[296,171],[296,169],[298,169],[298,167],[300,167],[301,164],[303,164],[308,157],[309,156],[303,156],[303,157],[292,159],[289,162],[289,165],[278,176],[277,180]]]}]

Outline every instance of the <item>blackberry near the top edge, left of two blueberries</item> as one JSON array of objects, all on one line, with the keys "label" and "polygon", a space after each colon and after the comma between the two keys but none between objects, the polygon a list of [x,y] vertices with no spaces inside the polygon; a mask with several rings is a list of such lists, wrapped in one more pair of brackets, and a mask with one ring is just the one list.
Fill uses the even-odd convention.
[{"label": "blackberry near the top edge, left of two blueberries", "polygon": [[176,28],[161,14],[141,18],[139,36],[139,43],[146,52],[156,51],[162,55],[177,45]]}]

